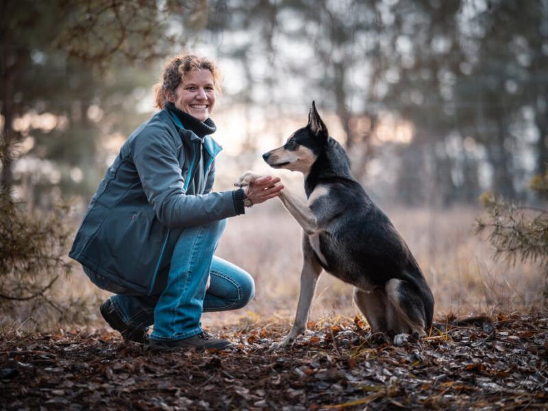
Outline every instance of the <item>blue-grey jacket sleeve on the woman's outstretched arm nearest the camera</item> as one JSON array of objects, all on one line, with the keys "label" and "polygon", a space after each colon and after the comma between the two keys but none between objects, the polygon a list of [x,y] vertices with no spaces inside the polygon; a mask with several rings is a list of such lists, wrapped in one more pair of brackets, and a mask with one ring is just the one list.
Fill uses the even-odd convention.
[{"label": "blue-grey jacket sleeve on the woman's outstretched arm nearest the camera", "polygon": [[167,130],[142,132],[132,146],[132,158],[147,200],[166,227],[190,227],[241,214],[235,207],[237,190],[186,195],[177,147]]}]

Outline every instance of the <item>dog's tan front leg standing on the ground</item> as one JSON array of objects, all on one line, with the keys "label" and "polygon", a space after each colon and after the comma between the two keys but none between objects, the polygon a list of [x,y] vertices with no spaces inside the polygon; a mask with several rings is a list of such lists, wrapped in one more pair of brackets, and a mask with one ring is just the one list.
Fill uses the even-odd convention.
[{"label": "dog's tan front leg standing on the ground", "polygon": [[314,290],[316,290],[316,282],[321,274],[321,265],[314,256],[308,236],[303,233],[303,270],[301,271],[301,289],[299,290],[299,303],[297,303],[297,314],[295,315],[295,323],[291,331],[282,341],[282,343],[274,343],[271,350],[279,347],[286,347],[297,338],[300,334],[303,334],[306,330],[306,323],[308,323],[308,315],[310,314],[310,305],[312,303],[312,297],[314,297]]}]

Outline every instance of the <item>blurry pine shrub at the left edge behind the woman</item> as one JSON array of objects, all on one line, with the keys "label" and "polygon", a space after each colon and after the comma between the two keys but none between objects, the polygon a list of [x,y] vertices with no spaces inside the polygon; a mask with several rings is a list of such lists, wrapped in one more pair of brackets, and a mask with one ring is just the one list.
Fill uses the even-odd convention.
[{"label": "blurry pine shrub at the left edge behind the woman", "polygon": [[66,208],[30,214],[0,192],[0,325],[45,329],[85,323],[87,303],[67,289],[72,264],[66,256]]}]

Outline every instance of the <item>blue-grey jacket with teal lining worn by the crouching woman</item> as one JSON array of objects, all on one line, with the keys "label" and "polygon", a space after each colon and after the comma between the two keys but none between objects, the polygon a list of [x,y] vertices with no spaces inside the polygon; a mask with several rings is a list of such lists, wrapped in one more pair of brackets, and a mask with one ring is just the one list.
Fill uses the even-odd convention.
[{"label": "blue-grey jacket with teal lining worn by the crouching woman", "polygon": [[108,169],[69,256],[115,284],[151,294],[184,227],[243,212],[235,206],[241,190],[210,192],[219,151],[213,138],[184,129],[173,112],[155,114]]}]

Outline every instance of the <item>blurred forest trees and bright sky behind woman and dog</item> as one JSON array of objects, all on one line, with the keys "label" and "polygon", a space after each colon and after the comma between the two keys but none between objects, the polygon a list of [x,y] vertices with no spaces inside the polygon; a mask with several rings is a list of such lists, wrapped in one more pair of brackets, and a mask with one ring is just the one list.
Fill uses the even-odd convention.
[{"label": "blurred forest trees and bright sky behind woman and dog", "polygon": [[548,162],[548,0],[0,0],[5,199],[31,214],[71,200],[77,225],[184,50],[225,73],[221,185],[316,100],[381,205],[540,201],[526,188]]}]

